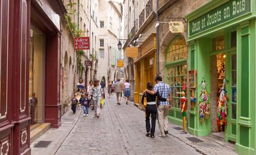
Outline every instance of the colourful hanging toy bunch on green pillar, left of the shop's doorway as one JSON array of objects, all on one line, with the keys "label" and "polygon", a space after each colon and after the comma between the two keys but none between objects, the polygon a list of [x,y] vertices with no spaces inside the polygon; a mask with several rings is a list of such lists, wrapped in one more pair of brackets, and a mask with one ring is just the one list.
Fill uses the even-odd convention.
[{"label": "colourful hanging toy bunch on green pillar, left of the shop's doorway", "polygon": [[208,119],[210,115],[210,94],[206,90],[205,80],[202,80],[201,85],[199,119],[200,123],[203,124],[203,119]]}]

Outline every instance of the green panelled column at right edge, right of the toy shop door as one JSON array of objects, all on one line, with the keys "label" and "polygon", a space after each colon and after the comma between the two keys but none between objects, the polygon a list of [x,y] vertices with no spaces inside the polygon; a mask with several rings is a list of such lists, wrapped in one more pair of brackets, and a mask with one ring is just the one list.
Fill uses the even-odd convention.
[{"label": "green panelled column at right edge, right of the toy shop door", "polygon": [[238,154],[255,154],[255,20],[237,27],[237,139]]}]

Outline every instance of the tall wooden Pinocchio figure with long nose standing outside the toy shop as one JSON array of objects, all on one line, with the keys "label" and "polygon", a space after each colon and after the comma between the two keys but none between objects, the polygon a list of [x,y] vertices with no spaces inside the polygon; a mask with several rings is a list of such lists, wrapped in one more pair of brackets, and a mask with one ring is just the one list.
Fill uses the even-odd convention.
[{"label": "tall wooden Pinocchio figure with long nose standing outside the toy shop", "polygon": [[186,116],[187,116],[187,98],[186,98],[186,83],[183,83],[182,91],[177,92],[177,94],[181,94],[181,113],[183,117],[183,132],[187,133],[186,128]]}]

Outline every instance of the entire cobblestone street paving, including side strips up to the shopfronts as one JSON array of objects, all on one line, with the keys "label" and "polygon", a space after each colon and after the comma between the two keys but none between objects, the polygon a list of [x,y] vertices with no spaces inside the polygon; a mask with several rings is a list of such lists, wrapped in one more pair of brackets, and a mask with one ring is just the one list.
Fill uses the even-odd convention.
[{"label": "entire cobblestone street paving, including side strips up to the shopfronts", "polygon": [[[106,98],[100,118],[94,111],[83,117],[81,110],[74,115],[69,110],[61,117],[61,127],[51,128],[30,147],[32,154],[236,154],[234,145],[211,136],[196,137],[182,134],[169,122],[169,135],[160,138],[156,124],[155,138],[145,136],[145,114],[133,103],[116,104],[116,96]],[[180,127],[179,127],[180,128]],[[194,143],[187,138],[197,138]],[[34,148],[38,141],[52,141],[47,148]]]}]

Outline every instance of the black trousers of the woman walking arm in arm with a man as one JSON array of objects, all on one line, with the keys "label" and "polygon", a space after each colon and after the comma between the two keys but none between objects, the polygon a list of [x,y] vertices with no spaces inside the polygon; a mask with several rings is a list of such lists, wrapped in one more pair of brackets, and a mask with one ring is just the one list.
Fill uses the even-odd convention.
[{"label": "black trousers of the woman walking arm in arm with a man", "polygon": [[[150,132],[151,135],[155,134],[156,114],[157,114],[156,104],[153,104],[153,105],[148,104],[146,107],[146,130],[147,132]],[[151,115],[151,128],[150,128],[150,115]]]}]

